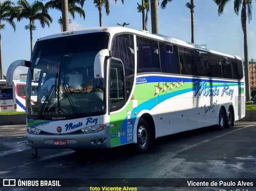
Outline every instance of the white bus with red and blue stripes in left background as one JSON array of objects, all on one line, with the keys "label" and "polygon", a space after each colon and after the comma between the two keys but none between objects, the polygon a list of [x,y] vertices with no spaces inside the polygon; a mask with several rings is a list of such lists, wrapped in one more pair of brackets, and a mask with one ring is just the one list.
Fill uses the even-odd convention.
[{"label": "white bus with red and blue stripes in left background", "polygon": [[[32,103],[37,99],[37,87],[32,82]],[[0,80],[0,111],[26,111],[26,80],[13,80],[12,86]]]}]

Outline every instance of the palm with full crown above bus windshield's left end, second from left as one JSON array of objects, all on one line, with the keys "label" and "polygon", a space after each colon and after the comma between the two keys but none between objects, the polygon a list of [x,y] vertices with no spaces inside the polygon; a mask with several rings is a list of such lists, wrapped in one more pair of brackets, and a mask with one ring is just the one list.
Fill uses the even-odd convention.
[{"label": "palm with full crown above bus windshield's left end, second from left", "polygon": [[52,23],[52,18],[48,14],[48,10],[44,6],[42,2],[34,1],[31,5],[26,0],[19,0],[17,2],[18,7],[18,17],[17,20],[20,21],[23,18],[29,20],[29,24],[25,26],[26,30],[30,31],[30,49],[31,54],[33,51],[33,34],[32,31],[36,30],[35,21],[39,20],[42,28],[47,25],[50,27],[50,23]]}]

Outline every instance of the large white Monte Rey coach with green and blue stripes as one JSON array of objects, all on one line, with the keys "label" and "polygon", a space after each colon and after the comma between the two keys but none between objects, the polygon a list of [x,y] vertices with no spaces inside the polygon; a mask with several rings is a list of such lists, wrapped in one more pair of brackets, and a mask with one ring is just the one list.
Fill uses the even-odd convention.
[{"label": "large white Monte Rey coach with green and blue stripes", "polygon": [[[11,64],[8,81],[17,66],[29,67],[32,148],[134,143],[145,152],[158,137],[222,129],[245,116],[242,59],[166,36],[123,27],[63,32],[40,38],[31,61]],[[31,83],[38,71],[34,104]]]}]

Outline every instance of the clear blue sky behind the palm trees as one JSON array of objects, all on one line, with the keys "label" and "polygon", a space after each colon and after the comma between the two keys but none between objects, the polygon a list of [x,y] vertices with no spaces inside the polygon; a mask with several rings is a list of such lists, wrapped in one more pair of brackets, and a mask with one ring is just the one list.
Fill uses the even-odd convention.
[{"label": "clear blue sky behind the palm trees", "polygon": [[[114,0],[110,1],[110,14],[106,16],[103,9],[103,26],[117,26],[117,23],[130,23],[129,28],[142,29],[142,14],[137,12],[137,2],[141,0],[121,0],[115,4]],[[159,33],[179,38],[184,41],[191,41],[190,26],[190,10],[185,4],[189,0],[173,0],[166,9],[162,10],[159,6]],[[14,0],[16,3],[17,0]],[[34,2],[30,0],[30,2]],[[43,1],[46,2],[46,1]],[[160,2],[162,2],[160,0]],[[224,52],[227,54],[237,55],[244,58],[244,40],[241,28],[240,14],[237,16],[233,10],[234,0],[230,0],[227,4],[224,14],[218,16],[216,4],[212,0],[194,0],[194,30],[195,44],[207,44],[208,49]],[[248,51],[249,59],[255,58],[256,53],[256,2],[253,1],[253,18],[248,24]],[[75,20],[70,24],[70,30],[99,26],[98,10],[94,7],[93,0],[86,0],[84,4],[86,18],[83,20],[76,15]],[[60,32],[58,19],[61,12],[58,10],[50,10],[49,14],[53,18],[50,28],[47,26],[42,29],[39,22],[36,22],[36,30],[33,31],[33,43],[37,38],[56,34]],[[254,18],[255,17],[255,18]],[[70,19],[71,16],[70,16]],[[6,29],[2,30],[2,53],[4,63],[4,74],[8,66],[15,60],[30,60],[30,33],[24,29],[29,21],[24,19],[16,22],[16,32],[9,24]],[[4,23],[5,24],[5,23]],[[149,15],[148,30],[151,32],[151,20]],[[14,78],[18,78],[18,74],[26,73],[26,68],[19,67],[15,72]]]}]

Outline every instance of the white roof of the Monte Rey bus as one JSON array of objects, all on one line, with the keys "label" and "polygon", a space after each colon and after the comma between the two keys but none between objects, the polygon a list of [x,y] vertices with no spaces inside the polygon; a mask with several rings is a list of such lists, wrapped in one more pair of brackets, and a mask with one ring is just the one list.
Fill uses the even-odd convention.
[{"label": "white roof of the Monte Rey bus", "polygon": [[140,36],[145,36],[145,37],[160,40],[160,41],[170,42],[170,43],[176,44],[176,45],[186,46],[188,48],[195,48],[195,49],[198,49],[201,51],[211,52],[213,54],[219,54],[222,56],[242,60],[242,58],[240,58],[239,56],[225,54],[225,53],[217,52],[214,50],[209,50],[207,48],[204,48],[203,46],[193,44],[191,42],[186,42],[186,41],[183,41],[180,39],[171,38],[169,36],[164,36],[162,34],[150,34],[149,32],[144,31],[144,30],[135,30],[135,29],[131,29],[131,28],[127,28],[127,27],[120,27],[120,26],[94,27],[94,28],[86,28],[86,29],[82,29],[82,30],[71,30],[71,31],[66,31],[66,32],[58,33],[58,34],[53,34],[53,35],[46,36],[43,38],[38,38],[38,41],[52,39],[52,38],[60,38],[60,37],[65,37],[65,36],[70,36],[70,35],[88,34],[88,33],[94,33],[94,32],[108,32],[110,34],[110,36],[112,36],[112,37],[114,36],[114,34],[118,34],[118,33],[125,33],[125,32],[132,33],[132,34],[137,34]]}]

